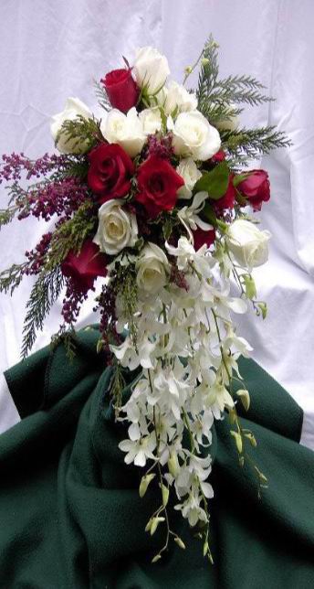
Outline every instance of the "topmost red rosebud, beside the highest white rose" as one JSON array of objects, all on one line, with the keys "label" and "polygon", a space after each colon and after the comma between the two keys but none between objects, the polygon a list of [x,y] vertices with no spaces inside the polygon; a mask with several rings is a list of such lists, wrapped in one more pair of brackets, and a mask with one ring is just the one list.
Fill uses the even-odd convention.
[{"label": "topmost red rosebud, beside the highest white rose", "polygon": [[112,70],[100,80],[113,108],[128,112],[140,96],[140,88],[131,75],[131,70]]}]

